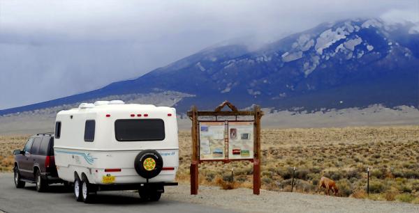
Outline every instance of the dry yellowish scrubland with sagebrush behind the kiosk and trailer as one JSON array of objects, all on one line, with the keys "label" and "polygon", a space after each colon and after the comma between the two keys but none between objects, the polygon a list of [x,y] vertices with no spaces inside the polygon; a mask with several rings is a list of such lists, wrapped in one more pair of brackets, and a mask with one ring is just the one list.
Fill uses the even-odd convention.
[{"label": "dry yellowish scrubland with sagebrush behind the kiosk and trailer", "polygon": [[[339,196],[419,204],[419,126],[262,130],[262,189],[324,194],[321,176],[335,180]],[[0,136],[0,172],[12,171],[13,150],[27,136]],[[189,182],[191,134],[179,132],[177,181]],[[249,161],[200,164],[200,184],[253,187]],[[231,180],[233,168],[233,182]],[[367,195],[367,168],[370,168]]]}]

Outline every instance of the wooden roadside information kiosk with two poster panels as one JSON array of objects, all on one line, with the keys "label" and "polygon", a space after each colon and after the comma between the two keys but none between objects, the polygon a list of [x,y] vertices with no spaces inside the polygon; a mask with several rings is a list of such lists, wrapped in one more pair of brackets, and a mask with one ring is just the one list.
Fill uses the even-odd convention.
[{"label": "wooden roadside information kiosk with two poster panels", "polygon": [[[226,106],[231,111],[221,111]],[[260,118],[263,116],[260,107],[238,111],[225,101],[214,111],[198,111],[193,106],[188,116],[192,120],[191,194],[198,194],[198,164],[205,161],[253,162],[253,194],[260,194]],[[200,120],[203,116],[215,120]],[[237,116],[253,118],[238,120]]]}]

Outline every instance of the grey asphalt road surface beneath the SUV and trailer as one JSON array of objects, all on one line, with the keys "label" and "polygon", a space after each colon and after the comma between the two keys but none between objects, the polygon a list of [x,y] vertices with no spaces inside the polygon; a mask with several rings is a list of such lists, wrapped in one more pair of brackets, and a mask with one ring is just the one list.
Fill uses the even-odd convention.
[{"label": "grey asphalt road surface beneath the SUV and trailer", "polygon": [[[175,191],[176,187],[166,189]],[[171,197],[173,194],[171,195]],[[76,202],[71,191],[62,184],[54,184],[51,191],[36,192],[34,184],[15,189],[12,173],[0,173],[0,213],[2,212],[231,212],[220,207],[210,207],[168,198],[163,194],[159,202],[141,202],[132,191],[102,191],[94,203]]]}]

